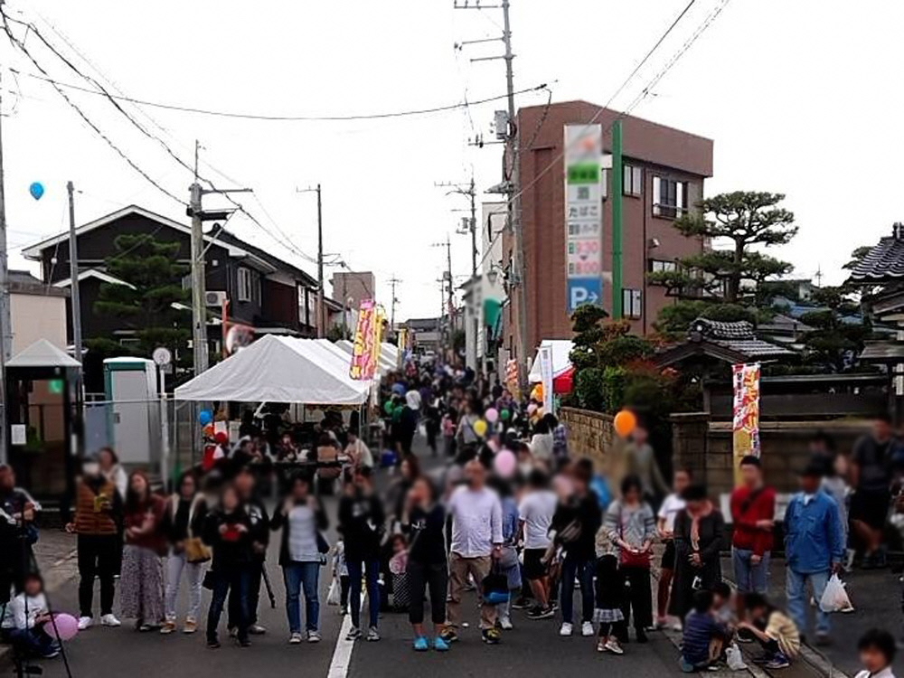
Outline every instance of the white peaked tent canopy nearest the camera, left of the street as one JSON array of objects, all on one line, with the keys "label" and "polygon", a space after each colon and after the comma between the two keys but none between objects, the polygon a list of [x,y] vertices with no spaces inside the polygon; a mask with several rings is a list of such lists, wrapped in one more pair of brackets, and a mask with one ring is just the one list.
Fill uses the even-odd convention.
[{"label": "white peaked tent canopy nearest the camera, left of the street", "polygon": [[267,334],[175,390],[176,400],[361,405],[369,381],[315,340]]}]

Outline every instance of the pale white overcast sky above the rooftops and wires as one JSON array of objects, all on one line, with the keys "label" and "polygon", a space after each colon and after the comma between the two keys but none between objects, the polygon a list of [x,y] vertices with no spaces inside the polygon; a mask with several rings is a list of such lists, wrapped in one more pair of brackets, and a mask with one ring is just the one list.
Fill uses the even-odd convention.
[{"label": "pale white overcast sky above the rooftops and wires", "polygon": [[[635,99],[722,1],[697,0],[613,108]],[[604,103],[686,3],[512,0],[516,89],[550,82],[553,100]],[[453,49],[458,41],[498,35],[501,14],[455,11],[452,5],[6,0],[5,7],[34,21],[81,69],[97,75],[93,64],[135,98],[262,114],[349,115],[504,94],[503,61],[470,62],[500,52],[501,44]],[[825,282],[838,282],[854,247],[873,243],[890,233],[892,221],[904,219],[901,25],[904,3],[895,0],[731,0],[634,113],[715,140],[715,176],[707,194],[786,193],[801,231],[794,244],[775,253],[792,261],[800,277],[822,268]],[[34,35],[27,46],[54,77],[85,84]],[[65,226],[70,179],[83,192],[80,222],[132,202],[185,220],[184,208],[128,167],[50,85],[10,77],[11,65],[36,69],[5,38],[0,64],[11,250]],[[147,174],[187,199],[191,175],[161,146],[103,99],[70,96]],[[543,94],[518,99],[519,105],[544,101]],[[265,227],[276,233],[276,221],[297,250],[311,256],[315,199],[296,189],[323,184],[325,250],[341,253],[352,268],[373,270],[378,297],[387,306],[386,281],[393,274],[401,278],[397,313],[405,318],[438,312],[436,279],[445,260],[431,244],[447,232],[453,233],[455,273],[469,272],[469,239],[454,235],[461,215],[451,212],[466,203],[434,183],[464,181],[472,167],[478,189],[499,181],[501,147],[466,144],[476,132],[491,136],[494,108],[504,108],[504,102],[352,123],[129,110],[186,162],[193,140],[200,139],[204,161],[255,189],[263,209],[247,196],[240,200]],[[208,166],[202,174],[231,184]],[[46,186],[40,202],[28,194],[33,181]],[[213,200],[206,204],[214,206]],[[313,264],[250,221],[237,217],[230,228],[315,273]],[[11,266],[21,268],[24,260],[14,253]]]}]

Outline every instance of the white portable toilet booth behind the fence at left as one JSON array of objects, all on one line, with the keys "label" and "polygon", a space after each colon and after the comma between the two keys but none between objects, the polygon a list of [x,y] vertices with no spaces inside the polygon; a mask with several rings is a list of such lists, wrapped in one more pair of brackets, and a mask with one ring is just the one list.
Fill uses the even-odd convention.
[{"label": "white portable toilet booth behind the fence at left", "polygon": [[144,358],[104,361],[110,447],[128,467],[159,466],[162,446],[157,366]]}]

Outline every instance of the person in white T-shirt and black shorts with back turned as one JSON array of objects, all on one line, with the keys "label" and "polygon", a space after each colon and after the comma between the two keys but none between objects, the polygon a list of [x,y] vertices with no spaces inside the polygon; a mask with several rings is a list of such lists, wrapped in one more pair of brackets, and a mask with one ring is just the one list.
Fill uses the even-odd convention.
[{"label": "person in white T-shirt and black shorts with back turned", "polygon": [[518,506],[524,540],[524,576],[537,601],[527,613],[532,619],[547,619],[554,614],[550,605],[550,578],[543,556],[551,543],[549,532],[556,502],[556,494],[549,488],[546,474],[534,469],[527,478],[526,494]]}]

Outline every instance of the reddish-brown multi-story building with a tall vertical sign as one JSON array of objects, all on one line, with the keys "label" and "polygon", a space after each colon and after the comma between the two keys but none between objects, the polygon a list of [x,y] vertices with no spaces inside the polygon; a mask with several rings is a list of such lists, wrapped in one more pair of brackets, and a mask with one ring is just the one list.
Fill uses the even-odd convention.
[{"label": "reddish-brown multi-story building with a tall vertical sign", "polygon": [[[513,290],[504,310],[500,363],[510,357],[524,364],[543,339],[570,338],[568,256],[566,253],[565,127],[602,129],[604,153],[611,149],[610,129],[620,114],[587,101],[567,101],[549,107],[522,108],[517,128],[521,171],[521,226],[527,306],[527,351],[519,349],[519,295]],[[673,269],[677,260],[707,247],[673,228],[675,218],[693,209],[703,195],[703,181],[712,175],[712,141],[641,118],[623,116],[623,306],[637,334],[646,334],[660,310],[673,303],[664,287],[647,278],[650,271]],[[529,144],[529,146],[527,146]],[[601,181],[602,229],[599,248],[602,294],[599,302],[612,309],[612,177]],[[513,240],[503,239],[502,266],[513,271]],[[526,353],[526,356],[525,356]]]}]

